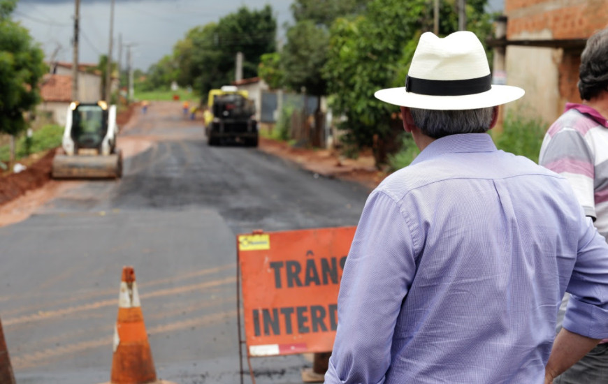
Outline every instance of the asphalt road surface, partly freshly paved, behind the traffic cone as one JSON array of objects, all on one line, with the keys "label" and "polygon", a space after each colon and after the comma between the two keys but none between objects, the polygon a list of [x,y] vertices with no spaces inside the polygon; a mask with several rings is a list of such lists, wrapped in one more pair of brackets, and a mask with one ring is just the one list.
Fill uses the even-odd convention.
[{"label": "asphalt road surface, partly freshly paved, behind the traffic cone", "polygon": [[[157,376],[238,383],[236,235],[356,225],[363,186],[257,149],[208,147],[180,110],[153,104],[122,133],[152,146],[126,159],[120,181],[71,182],[0,228],[0,318],[18,384],[109,381],[124,265],[135,268]],[[252,359],[257,383],[301,383],[310,365]]]}]

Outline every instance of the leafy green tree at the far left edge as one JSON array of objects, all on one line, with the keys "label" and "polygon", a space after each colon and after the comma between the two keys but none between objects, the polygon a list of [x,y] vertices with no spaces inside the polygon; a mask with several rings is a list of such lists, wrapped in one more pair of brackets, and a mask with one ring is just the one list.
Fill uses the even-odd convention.
[{"label": "leafy green tree at the far left edge", "polygon": [[24,112],[39,101],[38,82],[44,54],[27,29],[10,19],[16,0],[0,0],[0,133],[16,135],[25,127]]}]

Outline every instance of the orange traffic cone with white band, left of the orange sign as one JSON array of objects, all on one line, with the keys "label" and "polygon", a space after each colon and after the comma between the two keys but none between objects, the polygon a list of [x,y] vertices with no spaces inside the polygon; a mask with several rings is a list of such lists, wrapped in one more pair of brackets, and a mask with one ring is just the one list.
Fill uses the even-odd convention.
[{"label": "orange traffic cone with white band, left of the orange sign", "polygon": [[157,381],[152,350],[143,323],[135,271],[122,268],[118,296],[118,318],[114,328],[114,356],[111,384],[165,383]]}]

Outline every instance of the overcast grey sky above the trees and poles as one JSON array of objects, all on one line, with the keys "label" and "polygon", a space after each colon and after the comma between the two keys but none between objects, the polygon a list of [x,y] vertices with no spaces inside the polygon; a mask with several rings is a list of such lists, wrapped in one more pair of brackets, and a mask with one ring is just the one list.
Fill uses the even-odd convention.
[{"label": "overcast grey sky above the trees and poles", "polygon": [[[119,35],[123,45],[132,45],[133,66],[144,71],[171,54],[173,45],[192,27],[217,22],[241,6],[250,10],[266,4],[273,8],[279,34],[283,24],[293,22],[291,0],[116,0],[113,59],[119,58]],[[404,0],[407,3],[407,0]],[[503,0],[489,0],[491,10],[502,9]],[[75,0],[20,0],[13,19],[29,29],[41,44],[47,59],[72,61],[71,38]],[[110,36],[110,0],[80,0],[79,59],[83,63],[99,62],[108,54]],[[126,67],[126,47],[121,63]]]}]

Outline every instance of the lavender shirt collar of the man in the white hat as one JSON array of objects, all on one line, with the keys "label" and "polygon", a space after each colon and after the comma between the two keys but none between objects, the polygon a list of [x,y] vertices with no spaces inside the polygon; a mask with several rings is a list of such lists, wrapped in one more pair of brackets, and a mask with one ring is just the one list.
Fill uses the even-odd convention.
[{"label": "lavender shirt collar of the man in the white hat", "polygon": [[458,133],[431,142],[414,158],[412,165],[443,154],[494,152],[496,145],[487,133]]}]

